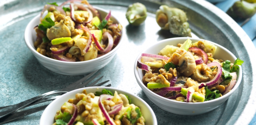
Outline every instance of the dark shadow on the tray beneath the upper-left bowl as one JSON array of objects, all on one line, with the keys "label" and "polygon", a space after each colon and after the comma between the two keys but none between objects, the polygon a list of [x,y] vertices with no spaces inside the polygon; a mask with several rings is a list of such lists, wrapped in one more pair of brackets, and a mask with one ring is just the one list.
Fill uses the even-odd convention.
[{"label": "dark shadow on the tray beneath the upper-left bowl", "polygon": [[61,89],[83,77],[83,75],[66,76],[54,73],[42,66],[32,54],[28,57],[22,69],[24,81],[35,86],[40,91],[41,89],[42,91],[44,89],[47,91]]}]

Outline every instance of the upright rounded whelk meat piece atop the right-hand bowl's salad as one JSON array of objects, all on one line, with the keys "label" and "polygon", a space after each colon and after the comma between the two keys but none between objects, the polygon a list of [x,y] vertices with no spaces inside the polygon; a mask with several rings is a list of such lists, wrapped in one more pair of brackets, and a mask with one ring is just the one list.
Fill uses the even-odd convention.
[{"label": "upright rounded whelk meat piece atop the right-hand bowl's salad", "polygon": [[179,72],[188,77],[195,71],[196,62],[193,54],[189,51],[179,56]]}]

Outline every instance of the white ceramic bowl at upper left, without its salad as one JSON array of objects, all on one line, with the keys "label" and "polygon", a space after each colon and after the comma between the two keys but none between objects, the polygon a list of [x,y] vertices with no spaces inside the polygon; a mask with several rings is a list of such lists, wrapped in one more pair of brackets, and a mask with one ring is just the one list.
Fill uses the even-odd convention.
[{"label": "white ceramic bowl at upper left, without its salad", "polygon": [[[94,8],[99,11],[99,13],[101,14],[101,18],[104,19],[108,11],[98,7],[94,7]],[[42,54],[39,54],[36,51],[36,48],[34,47],[34,41],[36,41],[36,32],[34,30],[34,27],[39,24],[39,17],[40,15],[37,15],[36,17],[34,17],[26,26],[26,30],[24,34],[25,43],[29,48],[29,50],[34,54],[36,59],[44,67],[59,74],[82,75],[82,74],[88,74],[97,69],[101,69],[113,59],[114,55],[117,53],[117,49],[119,49],[122,43],[122,36],[121,36],[121,39],[118,45],[113,50],[111,50],[109,53],[103,56],[100,56],[96,59],[92,59],[88,61],[66,62],[66,61],[51,59],[49,57],[43,56]],[[114,23],[119,23],[119,21],[113,16],[111,16],[111,20]]]}]

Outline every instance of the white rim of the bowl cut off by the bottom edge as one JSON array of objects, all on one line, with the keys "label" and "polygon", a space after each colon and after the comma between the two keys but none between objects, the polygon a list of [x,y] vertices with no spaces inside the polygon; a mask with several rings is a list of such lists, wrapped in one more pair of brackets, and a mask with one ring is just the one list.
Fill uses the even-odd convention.
[{"label": "white rim of the bowl cut off by the bottom edge", "polygon": [[[112,88],[112,87],[105,87],[105,86],[92,86],[92,87],[84,87],[84,88],[80,88],[80,89],[75,89],[75,90],[72,90],[72,91],[69,91],[69,92],[67,92],[67,93],[65,93],[65,94],[63,94],[63,95],[61,95],[59,98],[57,98],[57,99],[55,99],[54,101],[52,101],[45,109],[44,109],[44,111],[43,111],[43,113],[42,113],[42,115],[41,115],[41,117],[40,117],[40,121],[39,121],[39,124],[41,125],[41,122],[43,122],[42,120],[42,117],[45,117],[44,115],[46,114],[46,111],[47,110],[49,110],[49,108],[53,105],[53,104],[55,104],[55,103],[57,103],[59,100],[61,100],[62,98],[65,98],[65,96],[66,95],[69,95],[70,93],[77,93],[77,92],[80,92],[80,91],[82,91],[82,90],[84,90],[84,89],[108,89],[108,88],[111,88],[111,89],[113,89],[113,90],[115,90],[115,91],[120,91],[121,93],[122,92],[124,92],[124,93],[127,93],[127,94],[129,94],[130,96],[133,96],[133,97],[135,97],[135,98],[137,98],[137,99],[139,99],[139,101],[141,101],[143,104],[145,104],[146,105],[146,107],[147,107],[147,109],[150,111],[150,113],[152,114],[152,117],[153,117],[153,123],[154,123],[154,125],[157,125],[157,118],[156,118],[156,115],[155,115],[155,113],[154,113],[154,111],[152,110],[152,108],[147,104],[147,102],[145,102],[143,99],[141,99],[139,96],[136,96],[136,95],[134,95],[134,94],[132,94],[132,93],[130,93],[130,92],[128,92],[128,91],[124,91],[124,90],[122,90],[122,89],[117,89],[117,88]],[[77,92],[76,92],[77,91]],[[68,101],[68,100],[67,100]]]}]

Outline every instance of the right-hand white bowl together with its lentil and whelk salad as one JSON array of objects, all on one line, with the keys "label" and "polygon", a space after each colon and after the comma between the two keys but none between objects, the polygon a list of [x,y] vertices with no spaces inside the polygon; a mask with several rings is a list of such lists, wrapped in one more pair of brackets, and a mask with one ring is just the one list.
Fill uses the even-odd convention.
[{"label": "right-hand white bowl together with its lentil and whelk salad", "polygon": [[197,115],[216,109],[234,93],[242,80],[242,63],[219,44],[178,37],[142,51],[135,60],[134,75],[161,109]]}]

